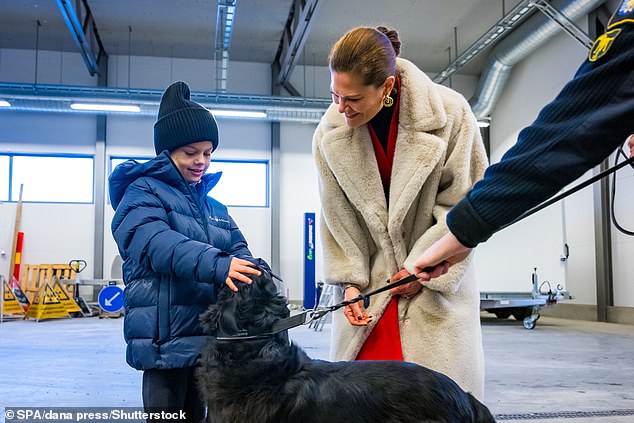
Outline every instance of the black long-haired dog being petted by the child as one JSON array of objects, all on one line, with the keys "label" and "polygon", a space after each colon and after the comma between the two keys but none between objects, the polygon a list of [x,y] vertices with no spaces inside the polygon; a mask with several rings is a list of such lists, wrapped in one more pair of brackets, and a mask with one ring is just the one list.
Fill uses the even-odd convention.
[{"label": "black long-haired dog being petted by the child", "polygon": [[[489,410],[447,376],[397,361],[313,360],[270,332],[290,314],[267,272],[227,287],[201,315],[213,340],[198,379],[214,423],[487,423]],[[215,337],[219,338],[216,339]]]}]

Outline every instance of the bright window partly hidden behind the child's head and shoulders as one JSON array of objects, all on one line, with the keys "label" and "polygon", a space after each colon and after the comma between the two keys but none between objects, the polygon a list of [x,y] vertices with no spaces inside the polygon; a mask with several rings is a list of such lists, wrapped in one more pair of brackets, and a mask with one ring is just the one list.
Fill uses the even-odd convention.
[{"label": "bright window partly hidden behind the child's head and shoulders", "polygon": [[[111,171],[132,157],[111,157]],[[139,163],[147,158],[133,158]],[[269,163],[265,160],[212,160],[207,173],[222,172],[210,195],[226,206],[269,206]]]}]

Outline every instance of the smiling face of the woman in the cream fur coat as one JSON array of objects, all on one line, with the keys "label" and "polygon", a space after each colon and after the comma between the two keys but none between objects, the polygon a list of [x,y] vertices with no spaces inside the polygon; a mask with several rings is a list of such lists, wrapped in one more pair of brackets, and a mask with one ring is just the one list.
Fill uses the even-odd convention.
[{"label": "smiling face of the woman in the cream fur coat", "polygon": [[349,72],[330,72],[332,101],[339,106],[346,124],[351,128],[368,123],[383,107],[383,98],[392,91],[394,77],[383,85],[363,85],[361,78]]}]

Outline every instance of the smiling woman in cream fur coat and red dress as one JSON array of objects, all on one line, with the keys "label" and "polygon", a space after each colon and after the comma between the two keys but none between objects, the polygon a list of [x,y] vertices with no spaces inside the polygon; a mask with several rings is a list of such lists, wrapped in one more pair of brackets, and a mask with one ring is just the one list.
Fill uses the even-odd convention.
[{"label": "smiling woman in cream fur coat and red dress", "polygon": [[[486,154],[466,100],[397,59],[395,31],[359,27],[333,46],[333,104],[313,138],[324,277],[346,300],[411,273]],[[341,299],[341,298],[340,298]],[[331,358],[396,359],[483,398],[479,291],[470,261],[335,315]]]}]

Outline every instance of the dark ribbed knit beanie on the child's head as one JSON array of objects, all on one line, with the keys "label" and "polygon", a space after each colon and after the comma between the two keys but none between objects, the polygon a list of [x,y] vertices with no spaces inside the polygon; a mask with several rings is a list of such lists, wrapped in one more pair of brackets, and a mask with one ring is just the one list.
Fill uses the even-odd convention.
[{"label": "dark ribbed knit beanie on the child's head", "polygon": [[218,125],[211,112],[189,99],[189,87],[182,81],[167,87],[154,124],[154,149],[174,151],[199,141],[218,147]]}]

